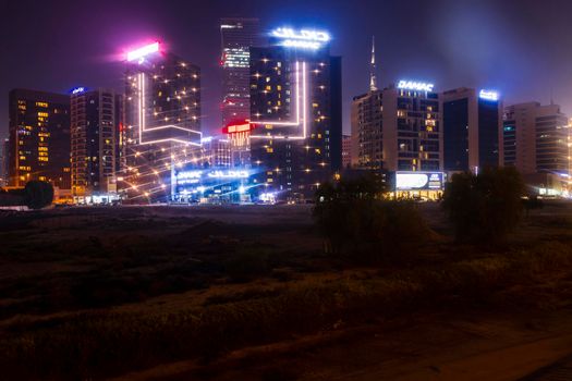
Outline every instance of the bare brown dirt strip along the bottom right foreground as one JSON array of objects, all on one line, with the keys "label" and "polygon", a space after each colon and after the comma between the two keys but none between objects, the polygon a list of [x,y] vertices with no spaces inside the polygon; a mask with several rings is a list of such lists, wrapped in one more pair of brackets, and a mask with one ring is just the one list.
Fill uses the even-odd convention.
[{"label": "bare brown dirt strip along the bottom right foreground", "polygon": [[114,380],[500,381],[519,380],[571,354],[572,311],[519,318],[479,311],[326,332],[236,351],[208,367],[179,361]]}]

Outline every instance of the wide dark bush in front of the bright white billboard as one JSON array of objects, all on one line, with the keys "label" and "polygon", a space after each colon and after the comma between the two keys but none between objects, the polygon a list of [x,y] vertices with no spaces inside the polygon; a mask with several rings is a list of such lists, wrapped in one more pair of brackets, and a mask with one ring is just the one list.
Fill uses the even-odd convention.
[{"label": "wide dark bush in front of the bright white billboard", "polygon": [[316,194],[313,214],[326,251],[358,261],[399,254],[430,234],[413,202],[382,199],[367,179],[325,184]]}]

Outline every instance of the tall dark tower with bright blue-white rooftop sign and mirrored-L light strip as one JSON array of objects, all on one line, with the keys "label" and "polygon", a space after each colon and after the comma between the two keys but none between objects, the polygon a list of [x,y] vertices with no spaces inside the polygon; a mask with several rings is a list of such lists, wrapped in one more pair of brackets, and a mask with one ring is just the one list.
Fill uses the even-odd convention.
[{"label": "tall dark tower with bright blue-white rooftop sign and mirrored-L light strip", "polygon": [[324,32],[278,28],[251,49],[252,165],[260,192],[312,197],[341,168],[341,58]]}]

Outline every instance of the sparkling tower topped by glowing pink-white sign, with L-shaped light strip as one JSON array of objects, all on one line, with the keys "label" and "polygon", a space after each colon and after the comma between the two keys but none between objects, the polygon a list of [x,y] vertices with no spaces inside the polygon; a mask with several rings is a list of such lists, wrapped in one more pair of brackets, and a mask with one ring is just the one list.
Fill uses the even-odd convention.
[{"label": "sparkling tower topped by glowing pink-white sign, with L-shaped light strip", "polygon": [[169,200],[174,169],[200,157],[200,70],[159,42],[127,53],[122,187],[135,201]]}]

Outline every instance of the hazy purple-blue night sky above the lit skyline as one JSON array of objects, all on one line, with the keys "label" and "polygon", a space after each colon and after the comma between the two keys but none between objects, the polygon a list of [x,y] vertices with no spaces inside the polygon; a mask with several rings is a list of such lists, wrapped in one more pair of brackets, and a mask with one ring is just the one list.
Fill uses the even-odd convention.
[{"label": "hazy purple-blue night sky above the lit skyline", "polygon": [[121,53],[146,39],[202,67],[204,131],[218,131],[224,16],[258,17],[265,30],[329,30],[332,54],[343,57],[345,132],[352,97],[367,90],[372,35],[380,86],[406,77],[439,91],[494,88],[504,105],[552,94],[572,114],[570,0],[0,1],[0,137],[11,88],[121,90]]}]

